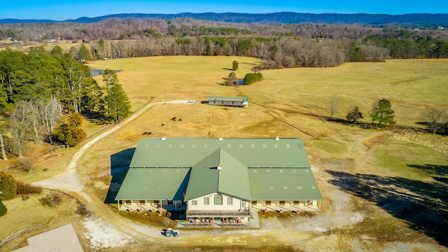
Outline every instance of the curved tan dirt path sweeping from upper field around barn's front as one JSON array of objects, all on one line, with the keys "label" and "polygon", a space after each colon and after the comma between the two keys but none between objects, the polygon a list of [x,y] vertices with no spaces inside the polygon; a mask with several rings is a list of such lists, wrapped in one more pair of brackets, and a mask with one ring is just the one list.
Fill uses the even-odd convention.
[{"label": "curved tan dirt path sweeping from upper field around barn's front", "polygon": [[[183,104],[187,101],[177,100],[167,102],[169,104]],[[165,102],[159,102],[155,104],[147,104],[139,111],[134,113],[130,118],[124,120],[122,123],[115,125],[110,130],[99,134],[88,141],[73,155],[71,162],[66,166],[62,174],[53,176],[52,178],[45,179],[43,181],[34,182],[35,185],[42,186],[44,188],[50,188],[55,190],[62,190],[66,193],[73,195],[78,200],[83,202],[90,211],[92,217],[90,223],[94,228],[89,230],[87,239],[90,240],[89,246],[92,250],[102,250],[108,248],[139,246],[141,244],[151,244],[152,246],[167,246],[167,241],[171,246],[178,246],[182,248],[195,248],[202,246],[248,246],[248,248],[263,248],[264,246],[292,246],[300,251],[332,251],[335,248],[339,251],[360,251],[360,250],[373,250],[378,251],[382,248],[381,244],[377,241],[370,239],[363,239],[362,237],[353,237],[352,235],[337,235],[330,234],[328,231],[333,228],[347,228],[360,222],[365,218],[358,212],[353,212],[347,207],[350,205],[350,196],[341,193],[337,190],[329,190],[332,192],[330,197],[334,197],[330,209],[325,213],[320,213],[316,218],[288,218],[288,224],[278,221],[277,218],[265,218],[263,219],[262,227],[257,230],[208,230],[208,231],[193,231],[181,232],[179,238],[164,237],[162,236],[162,230],[160,228],[150,227],[148,225],[142,225],[133,223],[118,216],[116,211],[112,211],[97,197],[89,195],[84,190],[84,185],[80,183],[78,174],[76,173],[76,166],[78,160],[83,156],[90,146],[97,143],[100,139],[107,135],[116,132],[127,123],[141,116],[151,106],[156,104],[163,104]],[[314,167],[316,172],[320,173],[320,169]],[[323,173],[325,177],[325,173]],[[322,178],[326,181],[330,178]],[[328,186],[328,183],[325,183]],[[329,195],[327,195],[329,196]],[[356,217],[356,218],[355,218]],[[89,220],[87,220],[89,221]],[[98,228],[100,226],[100,228]],[[112,235],[111,235],[112,234]],[[113,235],[116,234],[116,235]],[[89,236],[90,235],[90,236]],[[125,237],[125,238],[123,238]],[[106,240],[109,239],[109,242]],[[123,245],[121,241],[125,242]],[[398,247],[402,247],[398,245]],[[426,248],[437,251],[437,247],[426,246]],[[243,249],[244,251],[244,249]]]}]

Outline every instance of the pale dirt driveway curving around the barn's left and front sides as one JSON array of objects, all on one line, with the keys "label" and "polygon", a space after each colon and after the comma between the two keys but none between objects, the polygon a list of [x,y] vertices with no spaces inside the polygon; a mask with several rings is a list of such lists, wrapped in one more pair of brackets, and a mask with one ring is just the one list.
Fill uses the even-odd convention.
[{"label": "pale dirt driveway curving around the barn's left and front sides", "polygon": [[[173,101],[172,103],[185,102]],[[253,250],[253,248],[261,251],[276,251],[281,247],[289,248],[290,251],[444,251],[441,246],[429,240],[416,243],[388,242],[365,235],[365,232],[356,232],[359,224],[363,223],[367,216],[371,216],[372,211],[378,216],[386,213],[369,202],[356,200],[353,195],[344,193],[337,186],[329,183],[334,178],[325,171],[329,169],[347,171],[350,168],[346,164],[319,162],[319,160],[314,160],[319,166],[312,168],[321,191],[325,192],[323,193],[325,202],[323,211],[316,215],[262,218],[261,228],[257,230],[225,232],[223,230],[185,230],[178,238],[164,237],[159,228],[132,223],[84,190],[84,185],[80,181],[88,181],[88,179],[79,177],[76,165],[83,153],[99,139],[115,132],[154,105],[146,105],[111,130],[88,141],[73,155],[64,173],[34,183],[45,188],[70,193],[87,205],[92,216],[83,220],[82,224],[88,230],[83,235],[83,239],[88,241],[87,246],[92,251],[122,251],[123,249],[133,251],[133,248],[136,251],[148,248],[160,250],[162,246],[167,250],[204,248],[207,251],[213,250],[214,247],[217,249],[220,247],[220,251],[223,249],[244,251]],[[412,230],[409,229],[409,232]]]}]

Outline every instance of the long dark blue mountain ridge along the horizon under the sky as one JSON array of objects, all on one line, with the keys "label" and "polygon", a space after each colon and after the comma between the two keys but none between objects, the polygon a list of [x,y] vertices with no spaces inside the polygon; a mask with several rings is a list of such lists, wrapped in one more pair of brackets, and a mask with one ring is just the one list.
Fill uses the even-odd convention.
[{"label": "long dark blue mountain ridge along the horizon under the sky", "polygon": [[259,23],[259,24],[345,24],[345,25],[386,25],[406,24],[421,26],[448,26],[448,13],[409,13],[409,14],[367,14],[367,13],[177,13],[177,14],[151,14],[151,13],[118,13],[103,15],[94,18],[81,17],[76,19],[57,20],[34,20],[34,19],[0,19],[0,23],[31,23],[31,22],[78,22],[92,23],[106,20],[108,18],[159,18],[172,20],[175,18],[192,18],[197,20],[210,20],[217,22],[236,23]]}]

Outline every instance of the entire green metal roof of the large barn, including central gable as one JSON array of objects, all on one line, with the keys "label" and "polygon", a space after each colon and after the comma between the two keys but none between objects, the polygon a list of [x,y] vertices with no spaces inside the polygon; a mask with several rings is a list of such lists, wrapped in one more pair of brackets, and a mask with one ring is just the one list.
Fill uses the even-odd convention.
[{"label": "entire green metal roof of the large barn, including central gable", "polygon": [[[116,200],[181,200],[184,192],[184,200],[210,193],[249,201],[322,200],[309,167],[301,139],[140,139]],[[267,169],[275,172],[260,172]],[[183,191],[162,190],[181,183]]]}]

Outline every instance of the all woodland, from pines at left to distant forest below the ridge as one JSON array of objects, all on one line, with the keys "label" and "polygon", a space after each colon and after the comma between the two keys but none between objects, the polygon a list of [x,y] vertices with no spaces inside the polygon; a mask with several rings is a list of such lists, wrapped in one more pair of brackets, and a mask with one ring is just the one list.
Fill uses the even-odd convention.
[{"label": "all woodland, from pines at left to distant forest below the ridge", "polygon": [[[388,58],[447,58],[447,33],[394,26],[266,25],[188,18],[1,24],[0,38],[13,41],[0,44],[3,159],[5,150],[22,156],[21,146],[27,141],[76,145],[85,137],[79,128],[83,117],[76,115],[97,122],[119,122],[129,115],[129,101],[116,73],[105,71],[106,87],[100,87],[83,64],[91,59],[238,55],[262,59],[255,71],[328,67]],[[55,46],[47,52],[41,45],[50,38],[83,43],[73,43],[67,51]],[[12,50],[11,44],[20,46]],[[70,116],[62,119],[64,114]]]}]

